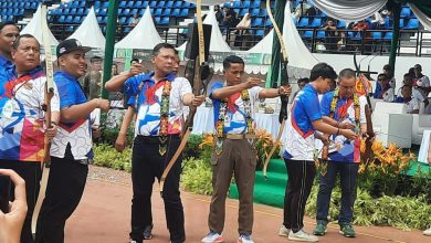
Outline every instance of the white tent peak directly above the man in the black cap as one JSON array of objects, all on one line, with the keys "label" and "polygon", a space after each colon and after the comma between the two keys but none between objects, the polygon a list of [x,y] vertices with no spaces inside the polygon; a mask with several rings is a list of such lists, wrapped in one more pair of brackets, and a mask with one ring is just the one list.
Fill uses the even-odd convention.
[{"label": "white tent peak directly above the man in the black cap", "polygon": [[90,10],[84,22],[77,28],[77,30],[67,39],[76,39],[82,45],[93,49],[105,49],[105,36],[97,23],[96,13],[94,8]]}]

